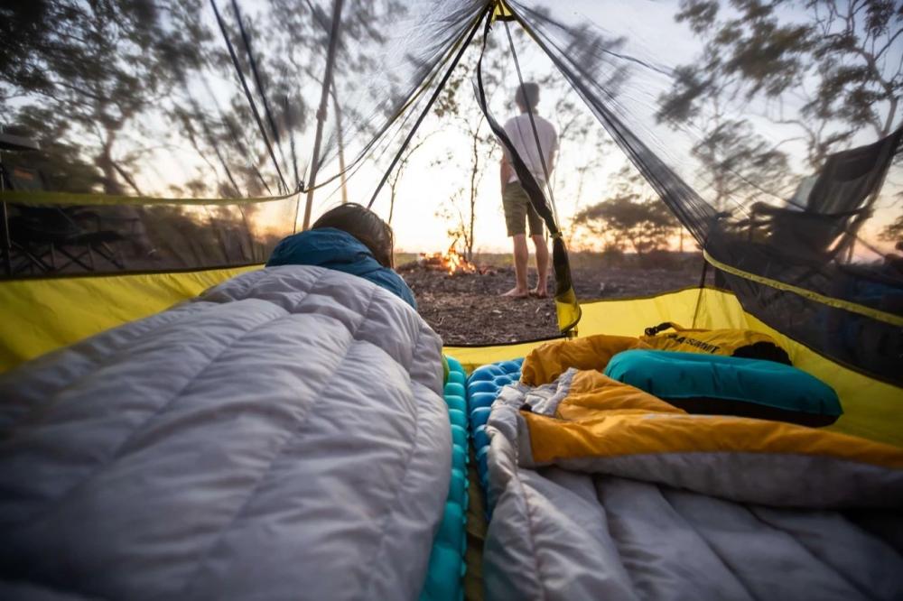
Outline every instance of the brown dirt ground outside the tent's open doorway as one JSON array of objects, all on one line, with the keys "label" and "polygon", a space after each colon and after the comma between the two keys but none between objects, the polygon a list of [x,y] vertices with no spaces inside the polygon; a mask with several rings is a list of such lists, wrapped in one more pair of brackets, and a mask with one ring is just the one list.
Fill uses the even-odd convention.
[{"label": "brown dirt ground outside the tent's open doorway", "polygon": [[[414,262],[398,268],[414,291],[420,314],[446,345],[499,344],[558,334],[551,282],[547,299],[508,299],[499,295],[514,285],[514,269],[478,265],[480,273],[453,275]],[[698,285],[701,264],[684,262],[670,269],[574,266],[572,274],[581,301],[631,298]],[[535,285],[535,271],[530,282]]]}]

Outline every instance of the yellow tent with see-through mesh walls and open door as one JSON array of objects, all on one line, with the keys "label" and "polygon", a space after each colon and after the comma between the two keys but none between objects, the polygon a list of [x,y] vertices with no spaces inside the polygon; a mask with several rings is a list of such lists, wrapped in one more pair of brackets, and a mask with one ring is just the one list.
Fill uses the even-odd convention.
[{"label": "yellow tent with see-through mesh walls and open door", "polygon": [[[380,210],[378,174],[461,56],[495,44],[545,61],[717,273],[717,287],[578,300],[554,195],[526,175],[564,335],[765,331],[840,394],[833,428],[903,444],[892,3],[48,0],[5,14],[0,369],[259,268],[368,171],[357,200]],[[474,81],[496,134],[513,73],[480,65]],[[479,365],[535,344],[448,352]]]}]

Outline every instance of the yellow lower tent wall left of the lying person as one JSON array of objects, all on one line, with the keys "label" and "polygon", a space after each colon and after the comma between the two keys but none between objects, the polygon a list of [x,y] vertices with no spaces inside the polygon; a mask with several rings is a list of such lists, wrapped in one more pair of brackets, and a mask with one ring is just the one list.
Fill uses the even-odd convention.
[{"label": "yellow lower tent wall left of the lying person", "polygon": [[0,373],[59,347],[142,319],[260,265],[0,282]]}]

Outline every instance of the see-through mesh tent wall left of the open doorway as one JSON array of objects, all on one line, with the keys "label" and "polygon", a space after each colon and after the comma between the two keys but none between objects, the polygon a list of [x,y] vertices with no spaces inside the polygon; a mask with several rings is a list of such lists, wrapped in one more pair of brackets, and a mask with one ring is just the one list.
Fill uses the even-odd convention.
[{"label": "see-through mesh tent wall left of the open doorway", "polygon": [[301,226],[305,192],[396,143],[484,6],[3,10],[4,199],[18,260],[5,272],[27,277],[87,268],[88,250],[94,271],[265,261]]}]

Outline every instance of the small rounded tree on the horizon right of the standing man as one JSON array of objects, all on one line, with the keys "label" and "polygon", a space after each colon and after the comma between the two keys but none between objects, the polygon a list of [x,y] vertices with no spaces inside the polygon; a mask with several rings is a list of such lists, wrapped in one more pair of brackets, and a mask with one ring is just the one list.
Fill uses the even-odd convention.
[{"label": "small rounded tree on the horizon right of the standing man", "polygon": [[606,250],[631,249],[640,257],[667,248],[680,227],[639,173],[625,166],[614,176],[613,193],[582,209],[574,227]]}]

